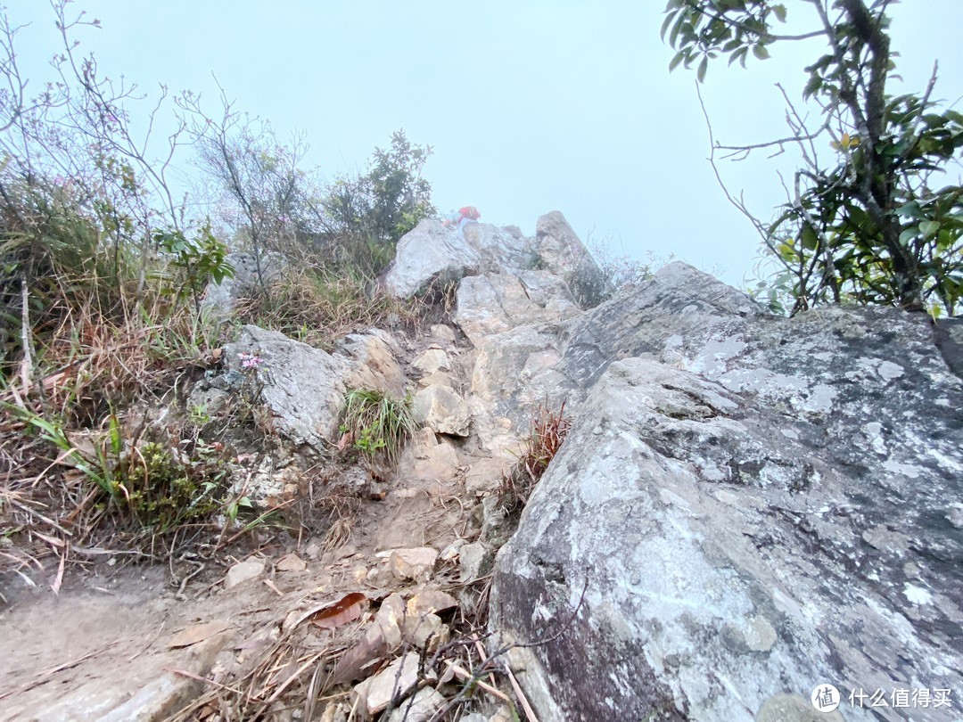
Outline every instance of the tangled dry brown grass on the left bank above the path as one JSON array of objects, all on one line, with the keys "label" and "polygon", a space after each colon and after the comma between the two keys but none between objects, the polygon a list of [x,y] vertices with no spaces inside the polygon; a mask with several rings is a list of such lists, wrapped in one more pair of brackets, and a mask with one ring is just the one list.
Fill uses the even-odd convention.
[{"label": "tangled dry brown grass on the left bank above the path", "polygon": [[[45,299],[42,318],[24,323],[32,352],[0,381],[0,572],[24,579],[51,554],[63,566],[90,560],[89,550],[101,545],[161,557],[169,541],[118,514],[123,500],[111,499],[98,478],[107,472],[137,476],[123,476],[120,449],[104,453],[99,464],[94,457],[105,451],[108,423],[116,424],[114,411],[122,409],[126,423],[116,442],[127,471],[138,464],[146,469],[137,454],[147,419],[133,409],[175,406],[178,387],[202,373],[204,357],[219,345],[188,304],[160,294],[139,301],[126,288],[115,288],[106,303],[110,294],[98,279],[88,279],[86,289],[66,275],[54,280],[60,295]],[[176,418],[170,414],[170,423]],[[171,445],[182,429],[170,423],[153,430],[174,458],[179,451]],[[147,499],[159,501],[156,495]],[[181,542],[191,535],[181,534]]]}]

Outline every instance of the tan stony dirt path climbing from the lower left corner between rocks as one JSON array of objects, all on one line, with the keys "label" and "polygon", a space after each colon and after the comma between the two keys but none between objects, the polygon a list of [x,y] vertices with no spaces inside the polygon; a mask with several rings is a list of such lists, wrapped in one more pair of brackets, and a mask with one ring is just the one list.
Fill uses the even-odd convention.
[{"label": "tan stony dirt path climbing from the lower left corner between rocks", "polygon": [[[431,380],[467,396],[468,351],[443,332],[408,350],[414,358],[427,348],[444,350],[451,361]],[[424,375],[410,365],[408,371],[415,383]],[[303,706],[304,689],[325,651],[328,657],[351,651],[379,603],[398,593],[410,607],[412,597],[426,590],[456,596],[468,586],[461,580],[457,550],[478,538],[478,496],[497,486],[502,467],[485,458],[473,437],[454,439],[426,429],[408,445],[391,477],[375,484],[351,515],[300,544],[248,560],[261,571],[230,588],[222,570],[206,570],[180,595],[166,569],[116,570],[101,563],[72,576],[59,596],[42,587],[21,593],[0,612],[0,719],[158,720],[203,694],[210,705],[194,709],[190,718],[207,712],[209,719],[224,718],[215,709],[223,715],[232,705],[241,715],[233,718],[269,708],[269,718],[293,718],[290,708],[275,711],[266,701],[275,692],[283,701],[286,690]],[[407,568],[397,550],[412,548],[429,548],[437,560],[427,569]],[[359,621],[336,630],[303,621],[310,619],[307,612],[348,594],[366,600],[368,611]],[[445,613],[450,622],[459,614]],[[404,649],[413,642],[400,638],[400,643]],[[392,646],[397,647],[389,644],[384,660],[392,658]],[[312,655],[314,667],[304,666]],[[241,683],[247,687],[241,689]],[[325,719],[338,718],[331,709]]]}]

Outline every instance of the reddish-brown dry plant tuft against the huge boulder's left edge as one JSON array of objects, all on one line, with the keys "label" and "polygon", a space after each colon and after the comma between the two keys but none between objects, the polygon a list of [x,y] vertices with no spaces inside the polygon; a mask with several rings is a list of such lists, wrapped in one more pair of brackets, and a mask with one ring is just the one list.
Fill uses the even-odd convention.
[{"label": "reddish-brown dry plant tuft against the huge boulder's left edge", "polygon": [[510,516],[520,516],[535,485],[559,452],[572,420],[565,416],[565,403],[558,411],[540,404],[535,411],[525,451],[507,476],[502,478],[500,498]]}]

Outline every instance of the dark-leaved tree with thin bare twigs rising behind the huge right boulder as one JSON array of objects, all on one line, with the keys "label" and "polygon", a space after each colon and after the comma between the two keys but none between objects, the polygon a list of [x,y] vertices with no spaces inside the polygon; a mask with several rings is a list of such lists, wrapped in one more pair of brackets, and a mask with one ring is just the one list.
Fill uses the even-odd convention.
[{"label": "dark-leaved tree with thin bare twigs rising behind the huge right boulder", "polygon": [[717,58],[745,65],[750,53],[767,59],[773,43],[825,40],[802,93],[819,107],[819,126],[791,103],[791,139],[727,148],[799,148],[789,202],[758,224],[793,312],[855,301],[952,315],[963,301],[963,190],[949,175],[963,159],[963,116],[932,99],[935,67],[922,93],[887,91],[891,4],[804,0],[793,7],[809,6],[814,29],[796,35],[775,32],[788,10],[772,0],[669,0],[665,9],[670,67],[697,63],[700,82]]}]

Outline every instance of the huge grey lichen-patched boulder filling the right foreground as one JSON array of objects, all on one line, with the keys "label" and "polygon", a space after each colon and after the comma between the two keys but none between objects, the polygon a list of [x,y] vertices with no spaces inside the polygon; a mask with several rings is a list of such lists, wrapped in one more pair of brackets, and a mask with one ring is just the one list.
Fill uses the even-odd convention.
[{"label": "huge grey lichen-patched boulder filling the right foreground", "polygon": [[924,315],[775,318],[674,265],[568,331],[586,400],[492,589],[539,718],[963,688],[963,383]]}]

